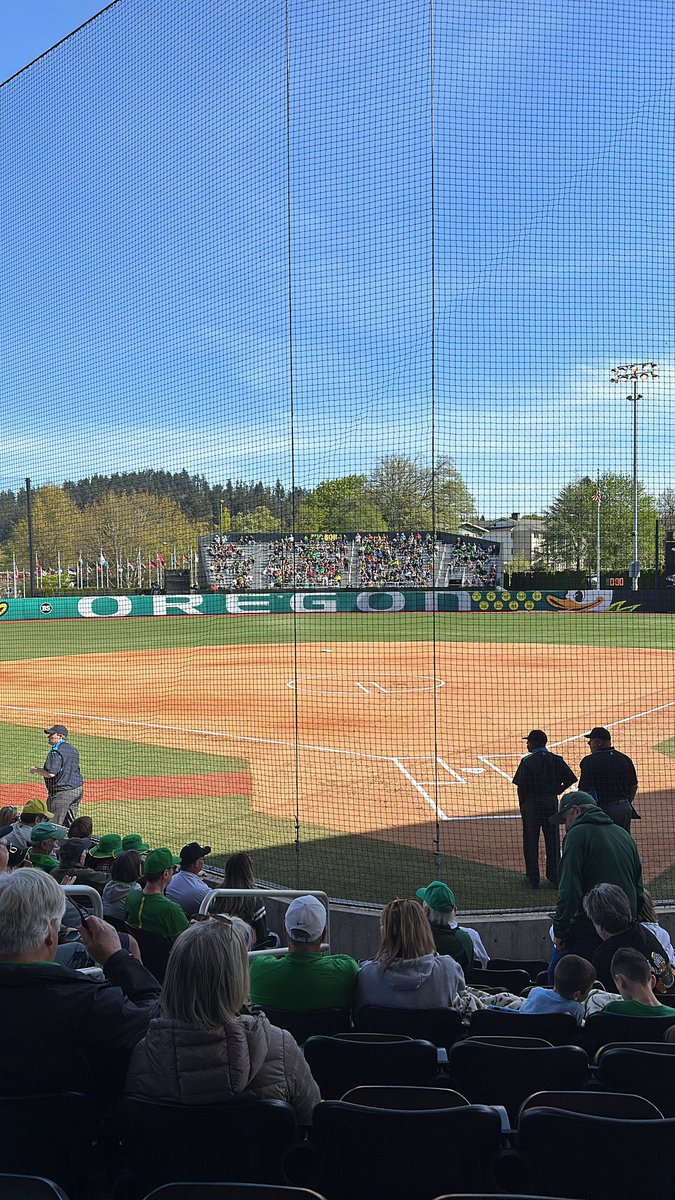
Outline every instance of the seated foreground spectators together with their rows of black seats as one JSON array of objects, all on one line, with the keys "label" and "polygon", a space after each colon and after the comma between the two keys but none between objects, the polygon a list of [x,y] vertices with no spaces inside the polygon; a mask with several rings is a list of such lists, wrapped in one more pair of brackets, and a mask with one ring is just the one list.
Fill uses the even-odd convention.
[{"label": "seated foreground spectators together with their rows of black seats", "polygon": [[[14,1106],[25,1096],[38,1105],[46,1092],[90,1097],[89,1118],[95,1114],[98,1144],[108,1146],[98,1151],[101,1177],[72,1156],[66,1170],[53,1139],[52,1174],[64,1181],[70,1171],[73,1195],[135,1200],[165,1178],[186,1177],[179,1172],[190,1166],[193,1178],[219,1178],[219,1162],[226,1178],[244,1172],[274,1182],[281,1178],[281,1151],[276,1168],[269,1165],[281,1136],[274,1121],[286,1122],[282,1148],[294,1147],[287,1170],[328,1200],[431,1200],[443,1178],[448,1188],[458,1181],[483,1188],[485,1174],[500,1170],[506,1194],[518,1177],[530,1190],[536,1181],[539,1194],[555,1195],[534,1148],[549,1108],[557,1110],[558,1129],[563,1114],[578,1121],[599,1114],[609,1122],[603,1139],[613,1121],[623,1123],[633,1154],[640,1141],[631,1121],[653,1126],[661,1133],[645,1133],[645,1145],[655,1139],[658,1177],[668,1168],[671,1178],[675,950],[649,895],[635,914],[616,884],[592,887],[584,913],[597,948],[590,959],[558,952],[550,970],[545,961],[490,958],[479,932],[459,920],[452,888],[436,880],[384,906],[380,944],[358,961],[331,952],[319,896],[295,895],[270,920],[249,854],[232,854],[226,864],[219,887],[234,895],[214,892],[204,877],[210,854],[201,840],[175,854],[138,833],[97,833],[90,816],[66,829],[40,799],[0,811],[0,1019],[12,1034],[2,1093]],[[628,1042],[646,1046],[604,1049]],[[406,1104],[400,1086],[429,1092],[417,1091]],[[542,1091],[555,1099],[530,1098]],[[283,1102],[274,1117],[246,1108],[270,1099]],[[47,1100],[58,1122],[59,1100]],[[76,1100],[62,1103],[65,1112]],[[183,1114],[173,1136],[172,1110],[154,1108],[167,1103]],[[204,1130],[220,1104],[244,1108],[219,1117],[214,1145]],[[501,1105],[501,1115],[477,1105]],[[392,1171],[377,1157],[374,1114],[383,1121],[383,1111],[410,1127],[412,1141],[399,1146],[410,1163],[402,1174],[399,1158]],[[450,1111],[456,1120],[444,1115]],[[250,1114],[247,1134],[237,1124],[239,1112]],[[202,1114],[202,1124],[191,1114]],[[420,1147],[444,1123],[441,1140],[444,1146],[449,1139],[455,1153],[458,1139],[484,1139],[482,1164],[453,1166],[438,1145],[434,1183],[416,1190],[417,1159],[417,1170],[426,1170]],[[504,1128],[512,1130],[510,1157],[502,1163]],[[234,1129],[235,1145],[228,1141]],[[382,1136],[387,1130],[384,1122]],[[359,1154],[364,1139],[375,1172],[365,1192],[348,1178],[350,1156]],[[0,1170],[16,1163],[14,1141],[0,1146]],[[19,1170],[31,1160],[24,1147]],[[360,1170],[369,1172],[359,1158]],[[638,1200],[627,1178],[616,1190],[611,1176],[615,1190],[605,1193],[602,1180],[591,1187],[585,1175],[575,1184],[571,1168],[565,1194]],[[670,1193],[650,1178],[649,1195],[665,1200]]]}]

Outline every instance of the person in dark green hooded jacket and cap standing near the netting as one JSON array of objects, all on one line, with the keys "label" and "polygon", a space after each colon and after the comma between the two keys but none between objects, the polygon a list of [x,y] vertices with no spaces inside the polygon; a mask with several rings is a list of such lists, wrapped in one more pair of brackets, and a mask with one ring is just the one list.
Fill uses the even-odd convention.
[{"label": "person in dark green hooded jacket and cap standing near the netting", "polygon": [[558,898],[554,913],[555,950],[549,966],[552,976],[563,954],[592,961],[601,946],[584,913],[584,896],[597,883],[623,888],[635,918],[643,904],[643,864],[638,847],[626,829],[603,812],[589,792],[568,792],[551,824],[563,824],[567,838],[560,860]]}]

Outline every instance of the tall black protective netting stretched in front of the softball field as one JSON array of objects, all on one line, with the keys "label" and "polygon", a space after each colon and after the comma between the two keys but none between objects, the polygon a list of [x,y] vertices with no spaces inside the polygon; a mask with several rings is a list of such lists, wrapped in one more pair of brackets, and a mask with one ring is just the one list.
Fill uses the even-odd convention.
[{"label": "tall black protective netting stretched in front of the softball field", "polygon": [[62,720],[100,833],[537,906],[607,726],[675,894],[674,20],[118,0],[0,88],[4,803]]}]

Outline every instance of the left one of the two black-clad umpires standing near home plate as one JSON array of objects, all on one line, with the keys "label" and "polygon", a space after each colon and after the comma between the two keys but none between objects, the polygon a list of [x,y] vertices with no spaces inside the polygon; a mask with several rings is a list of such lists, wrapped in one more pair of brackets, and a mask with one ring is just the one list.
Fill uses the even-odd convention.
[{"label": "left one of the two black-clad umpires standing near home plate", "polygon": [[539,887],[539,833],[544,834],[546,851],[546,878],[557,888],[557,864],[560,860],[558,826],[550,824],[549,817],[557,812],[557,798],[577,775],[565,758],[546,748],[548,737],[543,730],[530,730],[526,738],[527,754],[520,760],[513,782],[518,787],[518,803],[522,817],[522,853],[527,883]]}]

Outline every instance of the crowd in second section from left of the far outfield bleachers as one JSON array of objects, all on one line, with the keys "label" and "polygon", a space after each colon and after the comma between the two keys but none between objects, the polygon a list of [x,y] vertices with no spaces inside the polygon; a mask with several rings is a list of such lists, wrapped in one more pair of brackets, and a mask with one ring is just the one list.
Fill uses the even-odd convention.
[{"label": "crowd in second section from left of the far outfield bleachers", "polygon": [[346,538],[291,535],[271,544],[264,574],[271,588],[339,588],[348,583],[351,554]]}]

